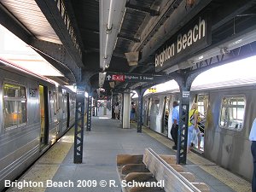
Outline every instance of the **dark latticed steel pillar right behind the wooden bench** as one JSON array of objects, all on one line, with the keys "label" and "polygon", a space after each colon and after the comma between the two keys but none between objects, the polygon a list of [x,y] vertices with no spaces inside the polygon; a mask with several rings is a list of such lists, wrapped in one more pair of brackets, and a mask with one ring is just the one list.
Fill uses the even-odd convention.
[{"label": "dark latticed steel pillar right behind the wooden bench", "polygon": [[199,73],[189,76],[177,75],[175,80],[180,89],[179,121],[177,131],[177,164],[186,164],[187,143],[188,143],[188,123],[189,123],[189,91],[191,84]]}]

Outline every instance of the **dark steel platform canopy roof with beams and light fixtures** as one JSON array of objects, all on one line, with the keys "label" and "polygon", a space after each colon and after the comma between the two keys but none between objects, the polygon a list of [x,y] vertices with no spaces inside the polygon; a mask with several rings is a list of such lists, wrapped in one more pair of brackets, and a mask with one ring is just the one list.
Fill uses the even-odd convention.
[{"label": "dark steel platform canopy roof with beams and light fixtures", "polygon": [[[112,83],[106,72],[161,75],[166,81],[256,55],[255,13],[253,0],[0,2],[0,23],[65,74],[61,81],[86,84],[95,93],[102,86],[107,95],[156,82]],[[201,20],[207,40],[198,43]],[[177,49],[186,50],[174,57]]]}]

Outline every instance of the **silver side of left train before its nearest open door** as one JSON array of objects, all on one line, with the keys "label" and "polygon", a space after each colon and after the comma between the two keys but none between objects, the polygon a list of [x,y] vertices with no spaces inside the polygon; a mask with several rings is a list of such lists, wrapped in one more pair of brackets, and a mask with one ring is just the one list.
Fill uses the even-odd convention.
[{"label": "silver side of left train before its nearest open door", "polygon": [[[40,153],[38,150],[40,140],[40,112],[37,81],[2,69],[0,69],[0,73],[1,119],[3,119],[1,120],[0,136],[0,186],[3,186],[4,179],[14,179],[38,157]],[[9,79],[10,77],[11,79]],[[19,113],[10,113],[11,109],[17,108],[16,105],[9,107],[9,109],[3,107],[3,98],[5,106],[14,105],[15,103],[9,101],[8,96],[3,96],[3,84],[10,84],[9,86],[13,84],[13,86],[20,86],[22,89],[26,89],[26,99],[23,97],[23,101],[21,101],[26,102],[26,117],[22,117],[23,124],[8,125],[10,118],[19,119]],[[33,93],[29,90],[32,90]],[[6,110],[4,114],[3,110]]]}]

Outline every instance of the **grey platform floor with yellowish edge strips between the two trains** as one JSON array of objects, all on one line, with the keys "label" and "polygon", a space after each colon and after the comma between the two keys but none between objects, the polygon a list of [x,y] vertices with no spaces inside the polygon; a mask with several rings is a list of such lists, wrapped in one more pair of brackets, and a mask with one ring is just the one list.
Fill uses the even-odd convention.
[{"label": "grey platform floor with yellowish edge strips between the two trains", "polygon": [[[99,116],[92,118],[91,131],[84,131],[82,164],[73,163],[71,129],[17,181],[30,182],[30,187],[20,185],[7,191],[120,192],[117,154],[143,154],[145,148],[152,148],[157,154],[176,154],[171,149],[173,143],[170,139],[147,128],[143,128],[143,133],[137,133],[136,124],[131,124],[131,129],[121,129],[119,120],[111,119],[110,115],[110,111],[102,115],[100,108]],[[184,169],[195,174],[196,182],[207,183],[212,192],[251,191],[251,184],[246,180],[198,154],[188,154]],[[109,187],[109,181],[115,183],[114,186]],[[106,187],[104,182],[107,182]]]}]

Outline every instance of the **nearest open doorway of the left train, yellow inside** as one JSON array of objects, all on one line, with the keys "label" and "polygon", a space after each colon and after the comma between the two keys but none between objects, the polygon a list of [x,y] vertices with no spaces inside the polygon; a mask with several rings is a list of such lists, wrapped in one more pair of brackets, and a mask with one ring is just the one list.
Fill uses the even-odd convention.
[{"label": "nearest open doorway of the left train, yellow inside", "polygon": [[40,99],[40,119],[41,119],[41,133],[40,146],[43,148],[48,143],[49,134],[49,112],[48,112],[48,89],[46,86],[39,85],[39,99]]}]

